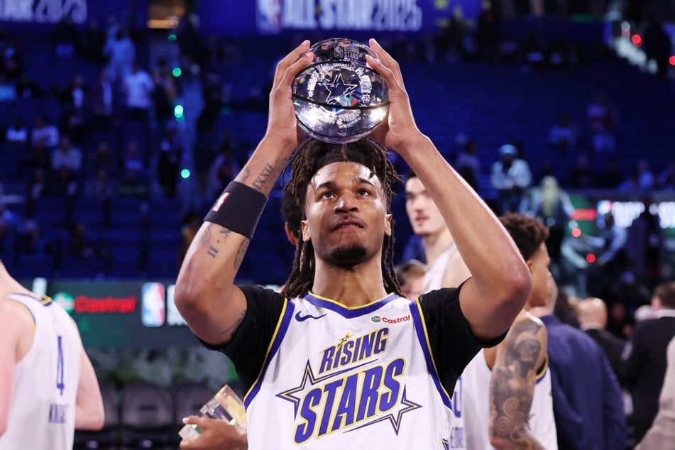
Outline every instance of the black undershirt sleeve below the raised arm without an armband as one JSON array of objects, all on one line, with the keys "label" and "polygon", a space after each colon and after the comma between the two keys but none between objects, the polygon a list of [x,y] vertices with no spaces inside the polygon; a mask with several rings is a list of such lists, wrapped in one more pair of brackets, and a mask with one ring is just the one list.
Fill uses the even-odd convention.
[{"label": "black undershirt sleeve below the raised arm without an armband", "polygon": [[495,346],[505,336],[488,343],[476,340],[459,306],[460,289],[432,290],[419,297],[432,357],[441,383],[450,393],[459,375],[481,347]]}]

